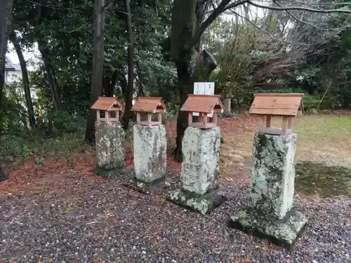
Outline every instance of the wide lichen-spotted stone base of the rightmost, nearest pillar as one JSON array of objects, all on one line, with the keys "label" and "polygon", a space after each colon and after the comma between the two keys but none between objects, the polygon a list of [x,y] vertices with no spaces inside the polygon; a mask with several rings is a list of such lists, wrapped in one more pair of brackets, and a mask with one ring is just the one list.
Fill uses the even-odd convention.
[{"label": "wide lichen-spotted stone base of the rightmost, nearest pillar", "polygon": [[241,210],[238,215],[231,217],[229,227],[267,238],[272,243],[291,250],[303,234],[306,224],[305,215],[296,210],[289,211],[285,217],[279,220],[263,215],[252,208],[246,208]]}]

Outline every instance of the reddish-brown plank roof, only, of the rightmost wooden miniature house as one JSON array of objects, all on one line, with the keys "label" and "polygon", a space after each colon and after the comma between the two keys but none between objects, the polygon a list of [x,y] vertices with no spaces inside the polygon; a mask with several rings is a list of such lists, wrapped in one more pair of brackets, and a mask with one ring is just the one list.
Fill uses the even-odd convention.
[{"label": "reddish-brown plank roof, only, of the rightmost wooden miniature house", "polygon": [[303,93],[256,93],[249,114],[294,116],[303,112]]}]

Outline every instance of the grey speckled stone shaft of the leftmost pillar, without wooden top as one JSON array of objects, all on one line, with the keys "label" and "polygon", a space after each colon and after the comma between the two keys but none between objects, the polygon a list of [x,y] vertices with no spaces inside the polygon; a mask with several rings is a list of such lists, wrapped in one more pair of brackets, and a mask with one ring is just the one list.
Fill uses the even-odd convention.
[{"label": "grey speckled stone shaft of the leftmost pillar, without wooden top", "polygon": [[96,121],[98,168],[113,170],[124,165],[124,130],[119,121]]}]

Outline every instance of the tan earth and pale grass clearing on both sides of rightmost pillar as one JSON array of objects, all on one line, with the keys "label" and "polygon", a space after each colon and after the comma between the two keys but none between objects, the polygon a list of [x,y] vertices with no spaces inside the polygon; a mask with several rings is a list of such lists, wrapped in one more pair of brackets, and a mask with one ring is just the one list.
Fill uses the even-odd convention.
[{"label": "tan earth and pale grass clearing on both sides of rightmost pillar", "polygon": [[[248,172],[251,168],[253,135],[259,118],[241,116],[221,119],[225,143],[221,150],[221,177],[232,177],[233,171]],[[273,126],[282,123],[272,119]],[[311,161],[326,166],[351,167],[351,116],[309,115],[293,120],[293,132],[298,134],[296,163]]]}]

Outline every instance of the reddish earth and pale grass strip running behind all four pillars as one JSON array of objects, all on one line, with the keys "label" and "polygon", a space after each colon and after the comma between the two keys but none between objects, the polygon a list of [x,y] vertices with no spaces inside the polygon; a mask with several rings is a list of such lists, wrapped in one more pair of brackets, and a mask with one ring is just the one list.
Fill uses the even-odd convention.
[{"label": "reddish earth and pale grass strip running behind all four pillars", "polygon": [[[239,117],[219,119],[224,143],[220,152],[220,180],[249,180],[253,135],[261,119],[248,114]],[[273,125],[279,126],[279,119],[272,119]],[[166,123],[168,149],[171,153],[175,146],[176,123]],[[326,166],[351,168],[351,115],[310,115],[293,121],[293,131],[298,133],[296,163],[312,161]],[[126,149],[126,166],[133,166],[133,154]],[[176,173],[180,163],[168,156],[168,169]],[[47,159],[37,163],[35,156],[25,161],[18,161],[11,166],[10,177],[0,183],[0,194],[17,191],[46,191],[51,184],[58,187],[56,180],[62,175],[78,173],[85,180],[102,180],[90,171],[95,167],[94,151],[79,153],[74,159]]]}]

